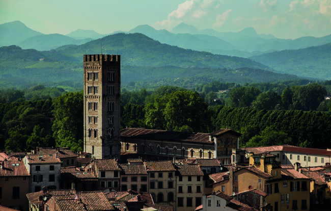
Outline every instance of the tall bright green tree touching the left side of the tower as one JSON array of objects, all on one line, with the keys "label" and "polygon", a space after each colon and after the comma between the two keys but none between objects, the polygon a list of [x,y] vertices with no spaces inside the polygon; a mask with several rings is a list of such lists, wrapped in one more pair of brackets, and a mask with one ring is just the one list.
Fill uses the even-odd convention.
[{"label": "tall bright green tree touching the left side of the tower", "polygon": [[58,146],[82,150],[84,138],[84,95],[69,92],[53,101],[52,131]]}]

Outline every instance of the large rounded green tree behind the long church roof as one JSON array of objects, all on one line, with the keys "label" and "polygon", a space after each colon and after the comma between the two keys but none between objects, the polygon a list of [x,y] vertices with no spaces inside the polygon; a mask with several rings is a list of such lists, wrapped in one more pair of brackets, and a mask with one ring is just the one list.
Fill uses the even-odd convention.
[{"label": "large rounded green tree behind the long church roof", "polygon": [[195,132],[206,133],[210,122],[208,105],[195,92],[178,91],[156,98],[145,107],[146,126],[175,130],[186,125]]}]

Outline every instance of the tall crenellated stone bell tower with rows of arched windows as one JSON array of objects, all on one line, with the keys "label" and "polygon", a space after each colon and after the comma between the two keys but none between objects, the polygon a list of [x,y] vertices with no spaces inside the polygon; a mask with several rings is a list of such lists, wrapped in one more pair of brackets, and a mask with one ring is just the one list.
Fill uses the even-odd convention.
[{"label": "tall crenellated stone bell tower with rows of arched windows", "polygon": [[84,151],[96,159],[121,154],[120,55],[84,55]]}]

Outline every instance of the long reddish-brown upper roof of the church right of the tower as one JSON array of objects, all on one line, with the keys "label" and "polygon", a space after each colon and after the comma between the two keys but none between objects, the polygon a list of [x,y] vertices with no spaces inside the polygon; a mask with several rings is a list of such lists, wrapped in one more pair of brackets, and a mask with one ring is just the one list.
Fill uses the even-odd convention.
[{"label": "long reddish-brown upper roof of the church right of the tower", "polygon": [[177,131],[168,131],[168,130],[125,128],[121,130],[121,136],[144,138],[144,139],[204,142],[204,143],[214,144],[214,141],[209,141],[209,134],[186,133],[186,132],[177,132]]}]

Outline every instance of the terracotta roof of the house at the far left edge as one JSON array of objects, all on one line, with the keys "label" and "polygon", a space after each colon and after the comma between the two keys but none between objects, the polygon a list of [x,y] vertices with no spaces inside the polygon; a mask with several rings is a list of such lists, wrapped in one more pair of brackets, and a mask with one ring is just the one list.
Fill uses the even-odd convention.
[{"label": "terracotta roof of the house at the far left edge", "polygon": [[24,163],[17,159],[0,162],[0,165],[3,165],[3,168],[0,169],[0,176],[30,176]]}]

